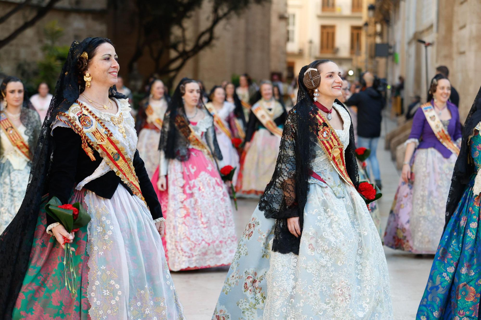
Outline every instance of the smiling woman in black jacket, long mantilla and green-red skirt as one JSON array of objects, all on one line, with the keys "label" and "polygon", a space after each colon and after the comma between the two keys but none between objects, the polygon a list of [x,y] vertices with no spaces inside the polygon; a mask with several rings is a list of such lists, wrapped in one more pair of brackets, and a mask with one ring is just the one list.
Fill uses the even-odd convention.
[{"label": "smiling woman in black jacket, long mantilla and green-red skirt", "polygon": [[[162,247],[160,204],[136,150],[129,104],[115,89],[116,60],[109,39],[72,43],[24,202],[0,237],[1,318],[133,319],[147,312],[184,319]],[[44,209],[55,198],[80,202],[89,224],[66,232]],[[64,239],[75,248],[70,289]]]}]

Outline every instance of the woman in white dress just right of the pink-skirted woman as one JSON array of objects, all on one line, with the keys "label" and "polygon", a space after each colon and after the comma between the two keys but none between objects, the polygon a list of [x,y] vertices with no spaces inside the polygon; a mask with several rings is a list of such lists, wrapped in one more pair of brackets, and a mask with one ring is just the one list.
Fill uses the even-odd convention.
[{"label": "woman in white dress just right of the pink-skirted woman", "polygon": [[234,115],[235,106],[226,101],[224,88],[214,86],[209,94],[209,102],[205,104],[205,107],[212,114],[215,136],[222,153],[222,160],[218,161],[219,168],[227,165],[236,168],[232,178],[232,183],[235,185],[239,173],[239,153],[234,145],[239,139],[239,132],[236,127],[237,118]]}]

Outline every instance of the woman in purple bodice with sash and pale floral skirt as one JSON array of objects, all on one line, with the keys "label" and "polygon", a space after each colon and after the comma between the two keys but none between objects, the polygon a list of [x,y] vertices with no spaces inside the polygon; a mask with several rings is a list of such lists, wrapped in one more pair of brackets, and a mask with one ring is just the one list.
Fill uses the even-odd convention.
[{"label": "woman in purple bodice with sash and pale floral skirt", "polygon": [[416,254],[436,253],[461,142],[449,80],[437,74],[429,92],[429,102],[416,111],[405,142],[403,172],[384,234],[386,246]]}]

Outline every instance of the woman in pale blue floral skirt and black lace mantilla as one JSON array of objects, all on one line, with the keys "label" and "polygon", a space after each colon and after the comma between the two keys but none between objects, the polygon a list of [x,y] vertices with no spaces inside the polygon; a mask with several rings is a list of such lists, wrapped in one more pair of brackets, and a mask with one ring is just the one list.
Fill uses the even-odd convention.
[{"label": "woman in pale blue floral skirt and black lace mantilla", "polygon": [[356,191],[354,130],[337,100],[340,75],[329,60],[301,69],[274,175],[242,234],[213,319],[392,319],[386,258]]}]

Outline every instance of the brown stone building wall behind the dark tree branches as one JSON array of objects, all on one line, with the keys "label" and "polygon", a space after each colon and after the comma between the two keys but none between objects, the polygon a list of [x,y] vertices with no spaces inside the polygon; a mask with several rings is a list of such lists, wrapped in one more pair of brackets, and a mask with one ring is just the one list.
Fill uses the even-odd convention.
[{"label": "brown stone building wall behind the dark tree branches", "polygon": [[[212,45],[182,68],[174,84],[182,77],[203,81],[207,90],[247,73],[259,82],[272,73],[286,75],[287,0],[271,0],[253,4],[239,16],[221,22],[215,28]],[[194,30],[203,30],[209,2],[191,20]],[[195,36],[194,32],[194,36]]]}]

